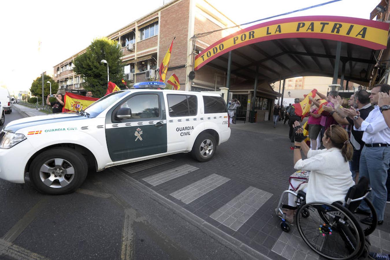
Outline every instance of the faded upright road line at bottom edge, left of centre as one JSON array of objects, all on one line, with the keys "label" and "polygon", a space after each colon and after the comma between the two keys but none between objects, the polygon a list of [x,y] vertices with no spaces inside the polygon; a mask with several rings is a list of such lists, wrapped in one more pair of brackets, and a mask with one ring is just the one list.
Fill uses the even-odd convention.
[{"label": "faded upright road line at bottom edge, left of centre", "polygon": [[125,209],[122,242],[121,242],[121,260],[134,259],[134,230],[133,224],[137,218],[137,211],[134,209]]}]

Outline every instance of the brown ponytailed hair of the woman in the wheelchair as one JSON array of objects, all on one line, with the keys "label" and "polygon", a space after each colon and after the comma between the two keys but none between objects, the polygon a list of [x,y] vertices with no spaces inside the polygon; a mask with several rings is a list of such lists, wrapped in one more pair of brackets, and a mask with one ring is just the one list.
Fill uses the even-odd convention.
[{"label": "brown ponytailed hair of the woman in the wheelchair", "polygon": [[[332,133],[331,133],[332,131]],[[353,147],[349,142],[348,133],[341,126],[328,127],[325,131],[326,136],[330,138],[334,147],[341,150],[344,160],[351,161],[353,156]]]}]

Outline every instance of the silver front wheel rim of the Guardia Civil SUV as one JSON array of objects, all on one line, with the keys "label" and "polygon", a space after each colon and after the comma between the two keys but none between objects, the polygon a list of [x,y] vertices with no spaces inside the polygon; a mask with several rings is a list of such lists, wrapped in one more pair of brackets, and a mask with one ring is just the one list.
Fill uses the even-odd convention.
[{"label": "silver front wheel rim of the Guardia Civil SUV", "polygon": [[74,167],[62,158],[52,158],[42,164],[39,177],[43,184],[51,188],[63,188],[74,179]]}]

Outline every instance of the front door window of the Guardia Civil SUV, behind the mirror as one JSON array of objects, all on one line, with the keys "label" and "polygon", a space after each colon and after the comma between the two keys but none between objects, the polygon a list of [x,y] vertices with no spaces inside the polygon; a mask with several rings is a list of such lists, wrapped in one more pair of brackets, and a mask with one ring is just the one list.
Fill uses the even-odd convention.
[{"label": "front door window of the Guardia Civil SUV, behind the mirror", "polygon": [[141,94],[130,97],[125,103],[121,104],[121,108],[131,109],[131,119],[160,116],[158,95],[155,94]]}]

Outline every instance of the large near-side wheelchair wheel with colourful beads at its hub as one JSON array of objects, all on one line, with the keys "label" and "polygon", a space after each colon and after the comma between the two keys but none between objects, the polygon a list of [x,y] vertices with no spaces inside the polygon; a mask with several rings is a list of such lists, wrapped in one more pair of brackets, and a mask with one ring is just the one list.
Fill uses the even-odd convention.
[{"label": "large near-side wheelchair wheel with colourful beads at its hub", "polygon": [[[304,212],[310,214],[306,214]],[[357,258],[364,249],[363,229],[353,214],[339,203],[311,202],[295,216],[303,241],[327,259]]]}]

